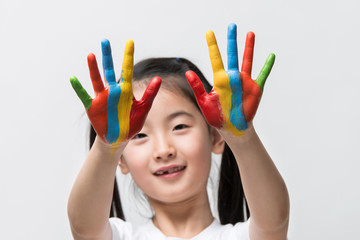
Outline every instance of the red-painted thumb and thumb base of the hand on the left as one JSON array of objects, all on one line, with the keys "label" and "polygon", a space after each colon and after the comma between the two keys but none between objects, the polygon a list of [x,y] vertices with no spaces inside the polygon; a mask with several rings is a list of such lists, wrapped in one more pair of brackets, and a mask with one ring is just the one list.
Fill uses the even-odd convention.
[{"label": "red-painted thumb and thumb base of the hand on the left", "polygon": [[143,97],[140,100],[133,98],[133,105],[130,112],[130,129],[128,138],[133,137],[141,130],[154,98],[159,91],[160,85],[161,78],[154,77],[147,86]]}]

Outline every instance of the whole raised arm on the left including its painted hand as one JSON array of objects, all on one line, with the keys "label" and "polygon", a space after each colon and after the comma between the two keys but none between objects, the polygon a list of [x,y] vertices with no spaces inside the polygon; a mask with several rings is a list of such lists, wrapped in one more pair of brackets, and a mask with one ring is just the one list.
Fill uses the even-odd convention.
[{"label": "whole raised arm on the left including its painted hand", "polygon": [[102,42],[102,53],[105,86],[95,56],[88,56],[94,99],[75,77],[70,79],[97,133],[69,197],[68,216],[75,239],[111,239],[108,219],[116,168],[128,139],[141,130],[161,84],[160,78],[154,78],[143,97],[136,100],[131,86],[133,42],[126,43],[120,83],[115,80],[107,40]]}]

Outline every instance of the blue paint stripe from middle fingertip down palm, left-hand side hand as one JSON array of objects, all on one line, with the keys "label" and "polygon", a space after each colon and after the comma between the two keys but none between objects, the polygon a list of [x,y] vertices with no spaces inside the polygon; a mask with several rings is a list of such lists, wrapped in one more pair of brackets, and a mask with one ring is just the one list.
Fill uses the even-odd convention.
[{"label": "blue paint stripe from middle fingertip down palm, left-hand side hand", "polygon": [[102,54],[103,54],[103,69],[105,79],[109,84],[109,98],[107,100],[107,121],[108,130],[106,134],[106,140],[109,143],[114,143],[119,137],[119,119],[118,119],[118,103],[121,95],[120,85],[116,83],[114,64],[111,55],[110,42],[104,39],[101,42]]}]

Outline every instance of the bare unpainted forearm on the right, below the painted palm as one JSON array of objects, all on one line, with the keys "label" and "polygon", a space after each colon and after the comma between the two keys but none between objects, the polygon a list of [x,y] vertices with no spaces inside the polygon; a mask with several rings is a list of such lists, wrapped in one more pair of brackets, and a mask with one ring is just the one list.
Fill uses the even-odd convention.
[{"label": "bare unpainted forearm on the right, below the painted palm", "polygon": [[[289,196],[286,185],[252,125],[246,134],[222,134],[236,158],[256,232],[287,230]],[[280,231],[281,232],[281,231]]]}]

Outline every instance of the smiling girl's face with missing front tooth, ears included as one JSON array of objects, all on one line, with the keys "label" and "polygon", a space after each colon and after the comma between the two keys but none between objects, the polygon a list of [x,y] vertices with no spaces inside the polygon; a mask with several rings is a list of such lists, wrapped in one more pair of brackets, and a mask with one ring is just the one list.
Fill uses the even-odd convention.
[{"label": "smiling girl's face with missing front tooth, ears included", "polygon": [[[144,88],[135,88],[140,99]],[[211,152],[224,141],[179,93],[160,88],[142,130],[126,146],[120,167],[149,200],[176,203],[206,193]]]}]

